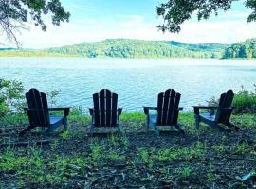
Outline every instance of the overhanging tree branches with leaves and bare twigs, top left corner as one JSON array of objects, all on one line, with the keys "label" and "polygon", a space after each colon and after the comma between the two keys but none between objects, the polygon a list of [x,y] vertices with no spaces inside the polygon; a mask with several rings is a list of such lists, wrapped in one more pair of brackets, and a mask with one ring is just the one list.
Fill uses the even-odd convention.
[{"label": "overhanging tree branches with leaves and bare twigs, top left corner", "polygon": [[0,0],[0,30],[10,42],[19,46],[16,33],[28,29],[26,23],[32,22],[46,31],[44,15],[50,14],[52,24],[60,26],[68,22],[70,13],[64,10],[60,0]]}]

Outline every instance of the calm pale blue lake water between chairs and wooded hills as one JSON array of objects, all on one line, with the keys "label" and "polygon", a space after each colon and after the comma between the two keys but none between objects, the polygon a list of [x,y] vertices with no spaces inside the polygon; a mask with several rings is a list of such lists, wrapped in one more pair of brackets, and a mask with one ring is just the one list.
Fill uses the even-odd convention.
[{"label": "calm pale blue lake water between chairs and wooded hills", "polygon": [[174,88],[190,110],[228,89],[253,90],[256,60],[0,58],[0,77],[20,80],[26,90],[61,90],[59,105],[84,110],[102,88],[119,94],[124,112],[155,106],[157,93]]}]

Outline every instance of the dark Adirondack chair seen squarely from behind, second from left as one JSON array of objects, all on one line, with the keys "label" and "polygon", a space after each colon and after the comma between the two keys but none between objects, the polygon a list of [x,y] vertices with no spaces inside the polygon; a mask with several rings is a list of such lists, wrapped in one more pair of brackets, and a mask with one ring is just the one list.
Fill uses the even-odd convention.
[{"label": "dark Adirondack chair seen squarely from behind, second from left", "polygon": [[99,93],[93,94],[94,108],[89,108],[92,116],[91,134],[95,128],[118,128],[119,116],[122,109],[118,108],[118,94],[108,89],[102,89]]}]

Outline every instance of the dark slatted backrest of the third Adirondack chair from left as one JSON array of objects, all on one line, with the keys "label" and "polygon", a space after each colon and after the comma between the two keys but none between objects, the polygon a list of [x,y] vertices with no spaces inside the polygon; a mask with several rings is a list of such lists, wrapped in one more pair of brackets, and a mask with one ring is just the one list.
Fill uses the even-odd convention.
[{"label": "dark slatted backrest of the third Adirondack chair from left", "polygon": [[177,124],[178,105],[181,94],[168,89],[158,94],[157,125],[169,126]]}]

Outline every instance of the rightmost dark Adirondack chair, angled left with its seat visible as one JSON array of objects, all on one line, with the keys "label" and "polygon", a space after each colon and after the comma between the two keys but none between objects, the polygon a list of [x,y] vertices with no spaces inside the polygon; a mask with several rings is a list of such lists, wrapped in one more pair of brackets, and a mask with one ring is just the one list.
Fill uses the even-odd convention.
[{"label": "rightmost dark Adirondack chair, angled left with its seat visible", "polygon": [[[204,122],[210,125],[214,129],[219,129],[221,131],[229,131],[230,129],[238,130],[239,128],[229,122],[229,118],[234,107],[231,106],[233,101],[234,93],[232,90],[221,94],[219,106],[193,106],[195,127],[199,128],[199,123]],[[200,113],[200,109],[210,110],[210,112]],[[223,124],[228,127],[228,129],[220,126]]]}]

